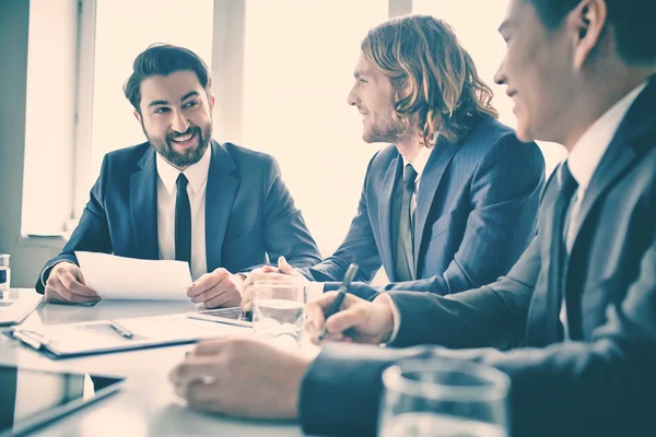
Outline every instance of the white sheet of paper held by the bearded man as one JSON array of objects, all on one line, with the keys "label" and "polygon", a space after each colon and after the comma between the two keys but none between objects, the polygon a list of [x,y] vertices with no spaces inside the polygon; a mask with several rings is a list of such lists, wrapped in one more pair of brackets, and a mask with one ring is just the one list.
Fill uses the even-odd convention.
[{"label": "white sheet of paper held by the bearded man", "polygon": [[189,264],[75,251],[86,286],[103,299],[188,300]]}]

